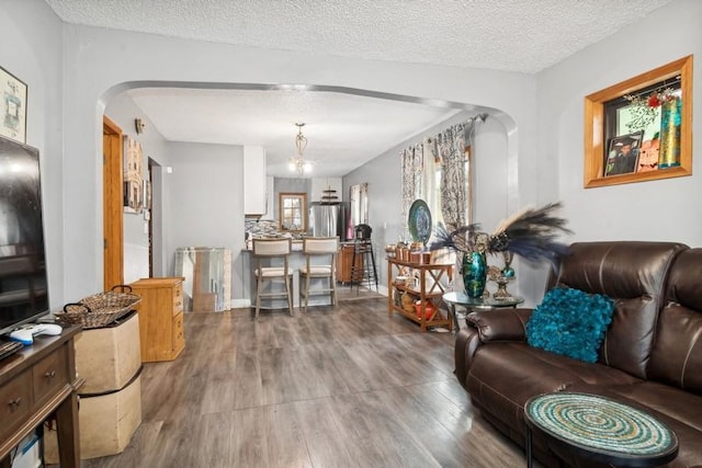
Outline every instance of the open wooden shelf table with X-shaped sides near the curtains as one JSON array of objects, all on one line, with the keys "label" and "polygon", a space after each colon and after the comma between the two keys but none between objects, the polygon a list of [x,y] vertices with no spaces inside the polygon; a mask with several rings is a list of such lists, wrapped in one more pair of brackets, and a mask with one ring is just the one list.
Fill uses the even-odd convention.
[{"label": "open wooden shelf table with X-shaped sides near the curtains", "polygon": [[[424,332],[430,327],[448,327],[449,331],[453,328],[453,318],[450,313],[444,317],[441,313],[441,298],[445,293],[445,285],[442,284],[444,276],[451,281],[453,277],[453,264],[442,263],[412,263],[401,261],[397,258],[387,258],[387,311],[389,316],[398,312],[404,317],[419,323],[420,331]],[[397,282],[398,276],[404,276],[403,270],[409,270],[418,281],[417,285],[409,286],[405,282]],[[420,300],[419,313],[411,309],[405,310],[401,305],[395,304],[395,296],[409,294],[414,297],[412,301]],[[427,304],[431,303],[433,310],[427,313]]]}]

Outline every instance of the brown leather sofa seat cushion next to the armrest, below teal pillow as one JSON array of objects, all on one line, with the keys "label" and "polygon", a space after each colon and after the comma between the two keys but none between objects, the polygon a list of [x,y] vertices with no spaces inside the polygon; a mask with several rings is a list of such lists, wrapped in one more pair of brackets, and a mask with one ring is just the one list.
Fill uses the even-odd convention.
[{"label": "brown leather sofa seat cushion next to the armrest, below teal pillow", "polygon": [[523,407],[534,395],[573,386],[620,386],[639,380],[622,370],[529,346],[491,342],[476,351],[466,378],[473,402],[509,425],[524,426]]}]

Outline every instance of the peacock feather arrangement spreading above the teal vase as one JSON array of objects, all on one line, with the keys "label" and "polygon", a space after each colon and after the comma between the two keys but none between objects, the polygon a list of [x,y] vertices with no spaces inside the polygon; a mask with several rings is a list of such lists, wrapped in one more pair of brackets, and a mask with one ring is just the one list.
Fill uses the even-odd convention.
[{"label": "peacock feather arrangement spreading above the teal vase", "polygon": [[567,252],[567,246],[557,241],[561,233],[573,233],[566,220],[556,216],[562,204],[550,203],[541,208],[525,208],[505,219],[492,233],[480,230],[479,224],[461,226],[449,231],[443,225],[435,230],[430,249],[449,248],[463,253],[509,252],[539,263],[555,264]]}]

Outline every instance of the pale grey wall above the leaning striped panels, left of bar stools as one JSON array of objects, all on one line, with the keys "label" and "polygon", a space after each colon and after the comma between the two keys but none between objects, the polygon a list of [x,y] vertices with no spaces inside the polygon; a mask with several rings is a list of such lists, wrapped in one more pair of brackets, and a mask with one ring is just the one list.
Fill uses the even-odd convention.
[{"label": "pale grey wall above the leaning striped panels, left of bar stools", "polygon": [[168,271],[179,247],[231,249],[231,297],[242,297],[244,149],[240,146],[169,142],[170,239]]}]

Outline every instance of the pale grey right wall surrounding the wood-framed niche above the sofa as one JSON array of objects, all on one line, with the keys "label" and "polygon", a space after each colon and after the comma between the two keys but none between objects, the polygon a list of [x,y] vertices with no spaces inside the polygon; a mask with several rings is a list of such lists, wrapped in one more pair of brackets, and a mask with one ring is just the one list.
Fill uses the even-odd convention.
[{"label": "pale grey right wall surrounding the wood-framed niche above the sofa", "polygon": [[[692,176],[584,189],[584,98],[694,54],[693,114],[702,111],[702,2],[676,0],[537,76],[540,198],[558,195],[576,240],[675,240],[702,246],[702,119],[693,117]],[[636,50],[636,53],[633,53]],[[554,186],[551,182],[558,181]]]}]

